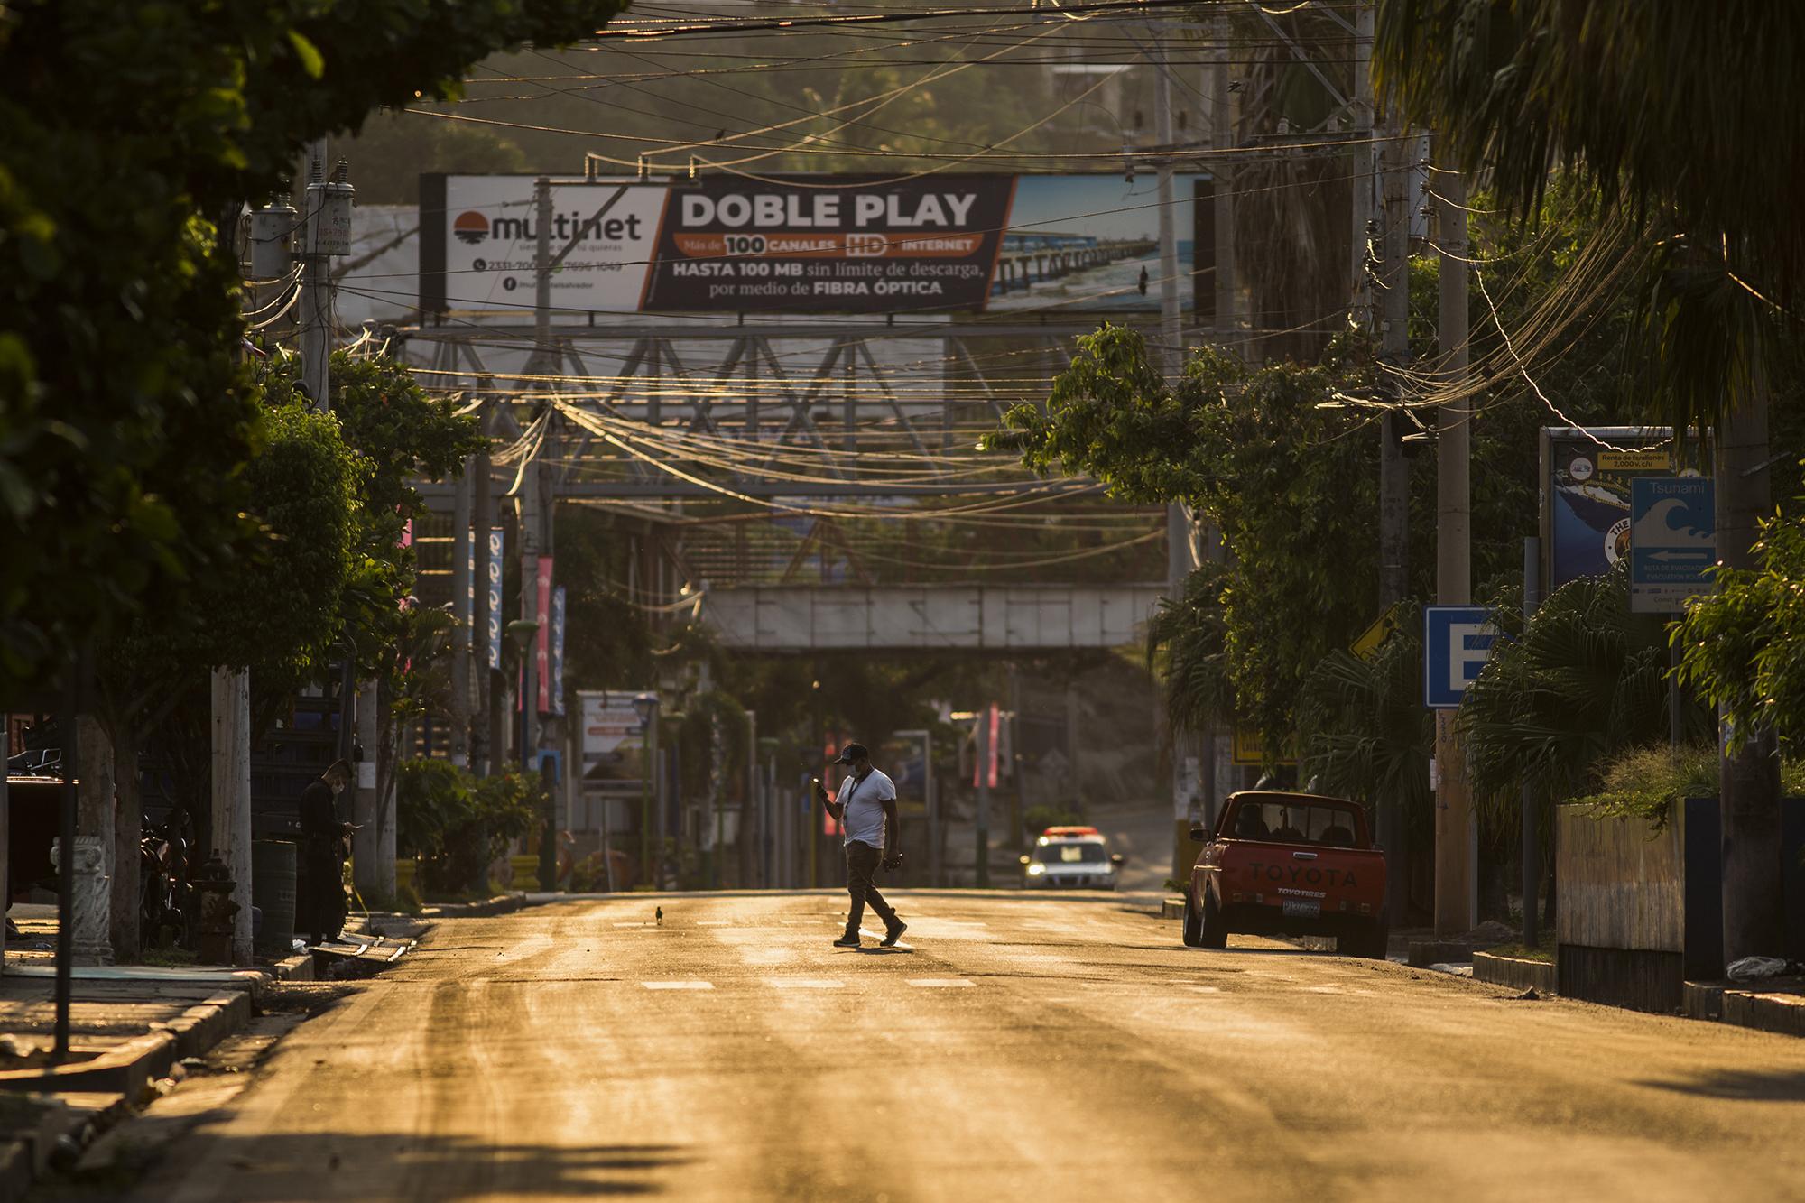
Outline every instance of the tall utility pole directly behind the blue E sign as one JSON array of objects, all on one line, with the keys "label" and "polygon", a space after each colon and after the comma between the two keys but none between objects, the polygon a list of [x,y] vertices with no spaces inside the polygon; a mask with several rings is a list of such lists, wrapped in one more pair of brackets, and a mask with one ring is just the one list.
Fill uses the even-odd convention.
[{"label": "tall utility pole directly behind the blue E sign", "polygon": [[[1437,410],[1435,430],[1435,598],[1442,605],[1473,600],[1473,493],[1469,486],[1473,405],[1462,396],[1467,381],[1467,226],[1466,179],[1439,172],[1437,228],[1440,240],[1440,343],[1442,387],[1451,397]],[[1527,600],[1527,582],[1525,582]],[[1435,712],[1435,934],[1462,936],[1473,930],[1475,871],[1473,786],[1467,779],[1466,742],[1455,732],[1457,710]],[[1525,923],[1532,894],[1523,900]],[[1402,918],[1402,916],[1399,916]]]}]

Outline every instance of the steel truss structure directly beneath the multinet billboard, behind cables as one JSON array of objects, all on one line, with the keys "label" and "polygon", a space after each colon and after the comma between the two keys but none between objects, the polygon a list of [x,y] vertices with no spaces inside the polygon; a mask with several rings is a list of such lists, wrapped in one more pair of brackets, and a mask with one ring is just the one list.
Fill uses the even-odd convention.
[{"label": "steel truss structure directly beneath the multinet billboard, behind cables", "polygon": [[500,441],[543,423],[534,459],[560,497],[1065,497],[1096,486],[1038,480],[973,444],[1011,405],[1045,401],[1088,329],[592,325],[554,327],[545,347],[532,327],[401,336],[422,383],[482,399]]}]

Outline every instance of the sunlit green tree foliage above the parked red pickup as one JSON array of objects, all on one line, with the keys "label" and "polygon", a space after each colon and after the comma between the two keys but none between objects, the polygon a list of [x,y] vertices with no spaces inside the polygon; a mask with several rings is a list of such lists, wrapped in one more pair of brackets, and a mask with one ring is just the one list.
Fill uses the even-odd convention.
[{"label": "sunlit green tree foliage above the parked red pickup", "polygon": [[[1338,401],[1372,387],[1352,340],[1316,365],[1258,368],[1202,347],[1168,387],[1141,334],[1105,325],[1078,340],[1045,412],[1013,408],[1013,434],[993,443],[1040,470],[1094,475],[1119,497],[1184,500],[1217,524],[1233,549],[1209,578],[1222,672],[1238,712],[1282,748],[1303,677],[1377,609],[1375,556],[1359,555],[1377,546],[1377,437],[1363,437],[1365,408]],[[1199,603],[1186,609],[1202,612]]]}]

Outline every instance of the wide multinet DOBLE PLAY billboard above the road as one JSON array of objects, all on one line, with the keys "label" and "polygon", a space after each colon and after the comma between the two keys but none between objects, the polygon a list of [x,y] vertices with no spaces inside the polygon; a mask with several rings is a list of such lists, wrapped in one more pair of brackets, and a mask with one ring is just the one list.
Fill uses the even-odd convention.
[{"label": "wide multinet DOBLE PLAY billboard above the road", "polygon": [[[1177,177],[1189,307],[1199,190]],[[1153,177],[711,175],[552,184],[556,322],[634,312],[982,312],[1159,307]],[[531,175],[421,177],[421,309],[525,320]]]}]

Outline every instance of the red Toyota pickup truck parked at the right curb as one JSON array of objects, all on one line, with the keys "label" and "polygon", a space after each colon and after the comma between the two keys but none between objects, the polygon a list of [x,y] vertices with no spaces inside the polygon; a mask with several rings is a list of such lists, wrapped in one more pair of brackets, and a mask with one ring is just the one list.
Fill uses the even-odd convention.
[{"label": "red Toyota pickup truck parked at the right curb", "polygon": [[1184,892],[1184,943],[1222,948],[1229,932],[1334,936],[1357,957],[1384,957],[1384,853],[1359,802],[1310,793],[1233,793]]}]

